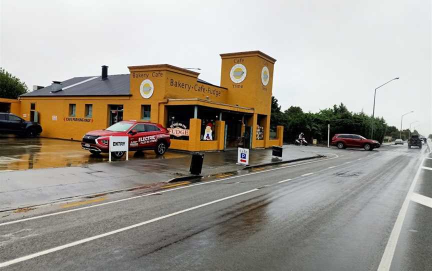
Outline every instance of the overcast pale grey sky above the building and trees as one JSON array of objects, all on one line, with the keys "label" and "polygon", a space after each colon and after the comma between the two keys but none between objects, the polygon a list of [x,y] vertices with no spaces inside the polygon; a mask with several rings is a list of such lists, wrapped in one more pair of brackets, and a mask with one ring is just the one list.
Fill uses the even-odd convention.
[{"label": "overcast pale grey sky above the building and trees", "polygon": [[282,109],[345,103],[404,128],[432,132],[430,0],[0,0],[0,65],[29,88],[52,80],[128,73],[128,65],[200,67],[219,84],[219,53],[277,59]]}]

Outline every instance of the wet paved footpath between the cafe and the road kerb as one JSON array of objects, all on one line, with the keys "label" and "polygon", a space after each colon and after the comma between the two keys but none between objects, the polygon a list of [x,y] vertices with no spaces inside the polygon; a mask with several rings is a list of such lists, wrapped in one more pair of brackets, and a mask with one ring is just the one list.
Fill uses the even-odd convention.
[{"label": "wet paved footpath between the cafe and the road kerb", "polygon": [[[284,146],[283,160],[315,156],[331,151],[322,147]],[[173,155],[170,155],[173,156]],[[0,211],[34,206],[71,197],[121,190],[132,187],[163,185],[175,177],[187,176],[190,157],[136,159],[83,166],[28,169],[0,172]],[[203,175],[235,171],[237,150],[205,152]],[[250,164],[275,162],[271,149],[250,152]]]}]

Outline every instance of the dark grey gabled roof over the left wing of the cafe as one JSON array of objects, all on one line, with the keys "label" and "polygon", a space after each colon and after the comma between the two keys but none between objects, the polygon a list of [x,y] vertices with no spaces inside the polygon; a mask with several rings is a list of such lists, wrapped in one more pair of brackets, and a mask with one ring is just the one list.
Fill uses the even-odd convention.
[{"label": "dark grey gabled roof over the left wing of the cafe", "polygon": [[96,76],[73,77],[61,82],[62,90],[51,92],[54,90],[52,85],[22,94],[21,97],[28,96],[120,96],[130,95],[129,74],[113,74],[108,75],[105,80],[101,80],[100,76],[92,80],[71,86],[69,85],[82,82]]}]

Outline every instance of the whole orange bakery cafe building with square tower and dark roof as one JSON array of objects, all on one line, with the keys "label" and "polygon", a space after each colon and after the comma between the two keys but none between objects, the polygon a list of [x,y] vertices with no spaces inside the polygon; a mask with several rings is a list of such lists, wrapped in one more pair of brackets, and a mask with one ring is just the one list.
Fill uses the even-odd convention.
[{"label": "whole orange bakery cafe building with square tower and dark roof", "polygon": [[89,130],[143,120],[167,127],[172,149],[281,145],[283,127],[270,127],[276,60],[260,51],[220,57],[220,85],[169,64],[129,66],[129,74],[102,66],[98,76],[53,81],[0,106],[10,102],[9,111],[39,122],[43,137],[81,140]]}]

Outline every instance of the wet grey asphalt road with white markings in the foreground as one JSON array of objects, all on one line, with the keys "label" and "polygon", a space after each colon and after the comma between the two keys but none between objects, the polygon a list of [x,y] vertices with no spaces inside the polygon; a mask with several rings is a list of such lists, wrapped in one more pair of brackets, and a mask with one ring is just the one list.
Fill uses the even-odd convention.
[{"label": "wet grey asphalt road with white markings in the foreground", "polygon": [[[0,270],[375,270],[413,180],[432,197],[432,155],[329,151],[11,224],[91,204],[0,213]],[[430,270],[432,204],[408,202],[390,269]]]}]

